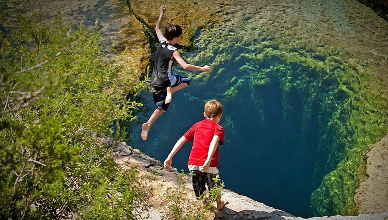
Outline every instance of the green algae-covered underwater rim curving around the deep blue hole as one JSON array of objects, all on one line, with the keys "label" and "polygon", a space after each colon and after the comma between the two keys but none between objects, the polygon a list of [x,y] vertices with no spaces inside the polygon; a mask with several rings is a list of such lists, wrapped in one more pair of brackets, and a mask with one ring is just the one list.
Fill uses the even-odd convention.
[{"label": "green algae-covered underwater rim curving around the deep blue hole", "polygon": [[[248,85],[261,121],[265,120],[265,106],[260,91],[277,82],[282,91],[284,117],[292,108],[292,91],[303,97],[304,121],[314,116],[312,106],[319,103],[319,159],[313,176],[317,190],[311,195],[311,207],[314,215],[320,216],[356,214],[353,196],[362,155],[369,144],[388,132],[388,102],[384,95],[387,85],[379,84],[379,93],[371,88],[379,71],[372,67],[374,59],[364,61],[357,57],[358,51],[352,53],[339,44],[311,44],[309,39],[293,36],[297,35],[295,32],[290,35],[292,38],[286,38],[287,34],[279,34],[279,23],[276,21],[275,28],[268,27],[267,31],[250,29],[249,25],[233,26],[231,22],[231,27],[201,28],[198,39],[190,37],[200,52],[185,57],[197,65],[211,64],[212,72],[189,76],[202,85],[197,91],[214,85],[217,90],[209,91],[210,95],[225,102],[237,99],[242,86]],[[240,34],[244,28],[245,32],[249,29],[249,34]],[[233,130],[230,118],[226,128]],[[304,123],[303,130],[307,129]]]}]

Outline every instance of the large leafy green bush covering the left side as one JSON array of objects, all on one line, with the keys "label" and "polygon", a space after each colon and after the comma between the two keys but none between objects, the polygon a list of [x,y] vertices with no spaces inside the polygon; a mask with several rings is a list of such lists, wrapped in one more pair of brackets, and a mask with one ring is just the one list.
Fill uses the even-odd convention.
[{"label": "large leafy green bush covering the left side", "polygon": [[99,37],[59,16],[1,29],[1,218],[137,219],[136,170],[120,171],[91,131],[112,135],[114,120],[135,119],[141,103],[125,97],[146,84],[104,62]]}]

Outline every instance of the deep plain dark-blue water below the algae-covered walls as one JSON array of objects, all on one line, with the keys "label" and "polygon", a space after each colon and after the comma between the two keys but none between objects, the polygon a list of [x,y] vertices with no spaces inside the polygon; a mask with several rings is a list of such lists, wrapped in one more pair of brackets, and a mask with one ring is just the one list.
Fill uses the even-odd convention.
[{"label": "deep plain dark-blue water below the algae-covered walls", "polygon": [[[226,68],[223,74],[233,75],[234,71]],[[168,112],[154,123],[146,142],[140,138],[140,126],[132,128],[130,145],[164,161],[178,138],[203,119],[205,100],[218,98],[214,94],[224,91],[220,87],[211,81],[200,84],[192,80],[189,88],[174,94]],[[311,217],[309,198],[315,189],[312,176],[319,143],[319,103],[313,102],[310,117],[304,117],[306,103],[300,95],[295,89],[288,93],[287,116],[281,84],[275,78],[263,88],[252,90],[242,86],[237,95],[222,98],[224,114],[220,125],[225,128],[226,141],[220,146],[219,169],[226,189],[292,215]],[[252,98],[255,96],[261,97],[260,110]],[[150,107],[146,119],[154,106],[151,93],[144,97]],[[174,157],[173,166],[178,170],[188,172],[191,144],[186,143]]]}]

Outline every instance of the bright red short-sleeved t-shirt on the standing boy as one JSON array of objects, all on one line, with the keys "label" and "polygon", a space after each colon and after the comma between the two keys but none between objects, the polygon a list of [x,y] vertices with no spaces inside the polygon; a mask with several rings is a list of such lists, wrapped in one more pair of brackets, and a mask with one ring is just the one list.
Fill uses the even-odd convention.
[{"label": "bright red short-sleeved t-shirt on the standing boy", "polygon": [[[193,141],[188,165],[203,165],[208,158],[210,142],[213,136],[220,137],[218,145],[224,144],[224,129],[211,119],[205,119],[195,123],[183,136]],[[218,166],[218,147],[210,161],[211,167]]]}]

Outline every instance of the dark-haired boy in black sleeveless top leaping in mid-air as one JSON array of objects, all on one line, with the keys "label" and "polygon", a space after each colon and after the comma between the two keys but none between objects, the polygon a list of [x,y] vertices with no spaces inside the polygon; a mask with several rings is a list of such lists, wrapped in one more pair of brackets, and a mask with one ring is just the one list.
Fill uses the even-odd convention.
[{"label": "dark-haired boy in black sleeveless top leaping in mid-air", "polygon": [[169,103],[172,101],[174,92],[186,88],[190,85],[190,80],[187,77],[171,74],[174,60],[177,60],[179,65],[184,70],[210,72],[210,66],[194,66],[187,64],[179,55],[178,49],[174,47],[182,38],[182,28],[176,24],[168,24],[165,27],[163,36],[161,26],[162,17],[166,11],[166,6],[160,7],[160,15],[156,22],[156,35],[159,39],[159,46],[156,50],[155,66],[152,71],[151,85],[153,86],[153,100],[156,105],[155,111],[149,117],[146,123],[142,124],[142,139],[145,141],[148,137],[148,131],[152,123],[164,112],[167,111]]}]

